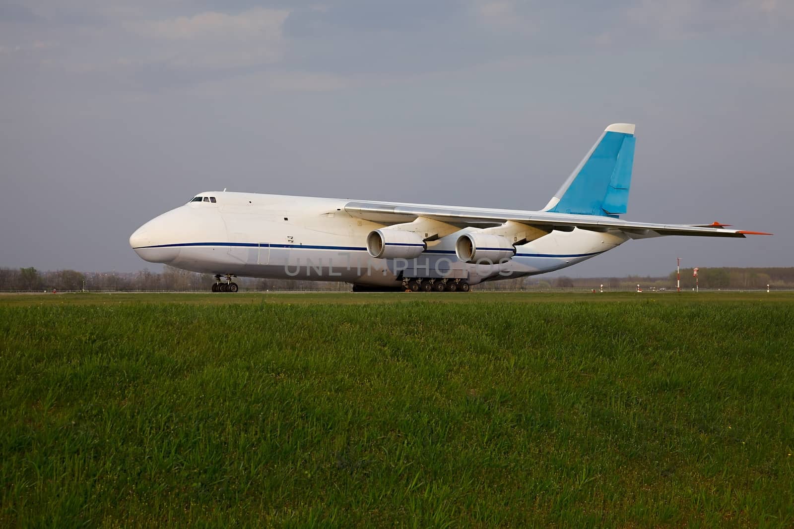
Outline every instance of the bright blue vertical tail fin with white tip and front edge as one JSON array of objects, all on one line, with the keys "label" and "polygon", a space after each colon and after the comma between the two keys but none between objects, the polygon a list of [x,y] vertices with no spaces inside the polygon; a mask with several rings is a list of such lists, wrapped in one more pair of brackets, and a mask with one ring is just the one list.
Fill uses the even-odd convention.
[{"label": "bright blue vertical tail fin with white tip and front edge", "polygon": [[618,217],[629,205],[634,125],[609,125],[544,211]]}]

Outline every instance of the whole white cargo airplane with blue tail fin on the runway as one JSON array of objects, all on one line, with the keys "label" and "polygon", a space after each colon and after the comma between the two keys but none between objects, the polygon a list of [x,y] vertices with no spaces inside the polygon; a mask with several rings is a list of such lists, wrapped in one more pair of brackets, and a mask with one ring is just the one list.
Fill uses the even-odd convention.
[{"label": "whole white cargo airplane with blue tail fin on the runway", "polygon": [[769,235],[619,219],[633,162],[634,125],[619,123],[541,211],[209,191],[149,220],[129,244],[151,263],[214,274],[213,292],[237,292],[237,276],[466,292],[572,266],[629,239]]}]

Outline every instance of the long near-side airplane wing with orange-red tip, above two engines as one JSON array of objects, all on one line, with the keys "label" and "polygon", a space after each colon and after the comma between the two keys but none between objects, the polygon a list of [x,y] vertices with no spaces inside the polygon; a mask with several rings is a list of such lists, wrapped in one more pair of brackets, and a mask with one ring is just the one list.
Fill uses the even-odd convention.
[{"label": "long near-side airplane wing with orange-red tip, above two engines", "polygon": [[615,217],[600,215],[576,215],[570,213],[548,213],[519,211],[515,209],[463,208],[447,205],[401,204],[396,202],[350,201],[345,212],[352,217],[371,220],[380,224],[402,224],[418,217],[452,224],[458,228],[474,226],[488,228],[504,224],[508,220],[526,224],[545,232],[554,230],[572,232],[574,228],[592,232],[626,233],[633,239],[657,236],[706,236],[744,237],[746,235],[772,235],[765,232],[727,229],[728,224],[652,224],[630,222]]}]

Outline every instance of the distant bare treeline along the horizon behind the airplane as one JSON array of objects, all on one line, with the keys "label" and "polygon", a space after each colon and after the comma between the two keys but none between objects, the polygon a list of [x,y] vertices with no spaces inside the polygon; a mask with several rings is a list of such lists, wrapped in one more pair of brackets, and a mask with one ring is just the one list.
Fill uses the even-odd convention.
[{"label": "distant bare treeline along the horizon behind the airplane", "polygon": [[[765,289],[794,288],[794,267],[788,268],[700,268],[701,289]],[[298,279],[237,278],[241,289],[248,290],[328,290],[345,291],[344,282],[303,281]],[[0,268],[0,291],[113,290],[113,291],[191,291],[208,290],[214,278],[165,266],[161,273],[145,268],[137,272],[78,272],[76,270],[40,271],[29,268]],[[532,276],[505,281],[484,282],[478,290],[535,289],[674,289],[676,272],[667,277],[630,275],[624,278],[546,278]],[[681,288],[692,289],[695,278],[692,268],[681,270]]]}]

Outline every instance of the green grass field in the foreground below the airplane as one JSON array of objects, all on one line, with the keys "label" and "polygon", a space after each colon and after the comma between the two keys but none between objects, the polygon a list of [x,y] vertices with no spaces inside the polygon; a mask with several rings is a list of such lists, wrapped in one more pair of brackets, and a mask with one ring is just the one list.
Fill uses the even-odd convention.
[{"label": "green grass field in the foreground below the airplane", "polygon": [[0,296],[0,527],[792,527],[794,295]]}]

